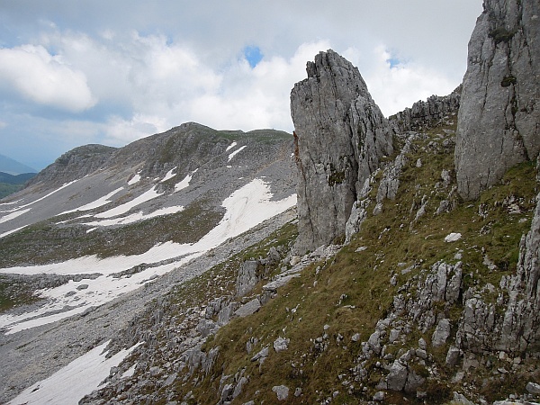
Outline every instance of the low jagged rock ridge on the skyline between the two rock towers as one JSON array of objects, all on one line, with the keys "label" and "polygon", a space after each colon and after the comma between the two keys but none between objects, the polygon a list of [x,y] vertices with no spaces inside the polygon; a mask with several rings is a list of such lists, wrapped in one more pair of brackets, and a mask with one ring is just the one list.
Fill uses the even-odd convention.
[{"label": "low jagged rock ridge on the skyline between the two rock towers", "polygon": [[425,126],[433,125],[448,115],[455,115],[459,110],[461,98],[461,85],[452,94],[445,96],[432,95],[428,100],[420,100],[390,117],[390,121],[401,132],[408,130],[420,130]]}]

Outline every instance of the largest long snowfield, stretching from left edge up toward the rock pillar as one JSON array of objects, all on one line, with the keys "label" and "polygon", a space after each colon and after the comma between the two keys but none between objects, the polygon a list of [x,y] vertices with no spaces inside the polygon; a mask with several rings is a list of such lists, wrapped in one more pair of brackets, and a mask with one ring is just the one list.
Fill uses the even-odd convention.
[{"label": "largest long snowfield, stretching from left edge up toward the rock pillar", "polygon": [[[138,289],[156,276],[165,275],[175,268],[183,266],[194,257],[199,257],[211,248],[219,246],[228,238],[236,237],[296,204],[295,194],[281,201],[270,201],[271,198],[270,187],[263,180],[257,178],[246,184],[222,202],[226,213],[216,228],[211,229],[209,233],[193,244],[178,244],[168,241],[158,244],[140,255],[104,259],[86,256],[45,266],[19,266],[0,269],[0,273],[23,275],[42,273],[56,275],[101,274],[94,280],[70,281],[56,288],[40,291],[41,297],[50,299],[47,304],[36,311],[17,316],[0,315],[0,328],[6,328],[7,334],[11,334],[103,305],[103,303],[110,302],[123,293]],[[160,262],[167,259],[175,260],[166,265],[159,265]],[[150,267],[134,275],[112,277],[113,274],[128,270],[141,263],[146,263]],[[151,267],[152,264],[154,267]],[[87,288],[77,290],[81,284],[86,284]],[[69,310],[65,311],[66,308]],[[48,315],[54,311],[63,312]]]}]

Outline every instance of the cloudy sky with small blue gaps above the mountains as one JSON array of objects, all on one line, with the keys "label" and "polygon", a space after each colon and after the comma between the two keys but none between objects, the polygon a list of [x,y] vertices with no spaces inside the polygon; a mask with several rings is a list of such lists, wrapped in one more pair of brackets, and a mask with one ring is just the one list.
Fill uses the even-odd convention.
[{"label": "cloudy sky with small blue gaps above the mountains", "polygon": [[388,116],[463,79],[482,0],[0,0],[0,154],[38,170],[196,121],[293,131],[334,49]]}]

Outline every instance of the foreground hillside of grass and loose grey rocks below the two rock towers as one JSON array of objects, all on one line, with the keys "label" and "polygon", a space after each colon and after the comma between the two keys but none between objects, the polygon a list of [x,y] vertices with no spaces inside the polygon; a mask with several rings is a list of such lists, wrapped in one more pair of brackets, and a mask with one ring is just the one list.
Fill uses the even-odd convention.
[{"label": "foreground hillside of grass and loose grey rocks below the two rock towers", "polygon": [[[486,350],[464,340],[481,302],[492,305],[494,323],[504,318],[505,280],[524,260],[520,240],[535,213],[536,165],[513,167],[477,202],[464,202],[455,118],[396,139],[396,153],[370,177],[360,230],[338,253],[291,256],[290,224],[156,302],[145,320],[151,338],[85,403],[531,398],[527,383],[540,375],[530,347]],[[378,201],[397,165],[395,197]],[[288,284],[268,286],[299,263]],[[241,297],[249,266],[252,290]],[[229,321],[254,300],[255,312]]]}]

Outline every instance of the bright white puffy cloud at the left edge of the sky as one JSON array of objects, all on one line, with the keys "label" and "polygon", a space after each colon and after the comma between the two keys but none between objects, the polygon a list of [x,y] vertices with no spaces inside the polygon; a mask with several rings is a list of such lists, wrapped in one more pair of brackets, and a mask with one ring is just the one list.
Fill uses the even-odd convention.
[{"label": "bright white puffy cloud at the left edge of the sky", "polygon": [[85,74],[40,45],[0,49],[0,85],[33,103],[67,112],[82,112],[97,102]]}]

